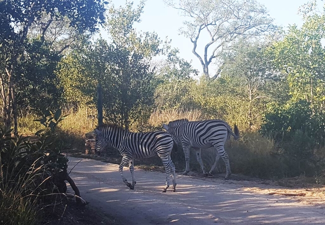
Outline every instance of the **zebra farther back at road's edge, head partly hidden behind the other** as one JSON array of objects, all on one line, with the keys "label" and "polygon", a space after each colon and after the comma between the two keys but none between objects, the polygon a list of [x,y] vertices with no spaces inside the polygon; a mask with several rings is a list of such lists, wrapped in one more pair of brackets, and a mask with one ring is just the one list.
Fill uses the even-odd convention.
[{"label": "zebra farther back at road's edge, head partly hidden behind the other", "polygon": [[225,121],[218,119],[202,121],[178,119],[170,121],[168,124],[163,124],[162,126],[169,134],[171,134],[176,142],[182,144],[186,162],[186,168],[183,174],[189,172],[189,149],[192,147],[196,151],[196,159],[199,162],[203,173],[207,175],[201,159],[201,148],[204,149],[213,146],[217,152],[215,162],[211,167],[209,174],[212,173],[216,166],[217,159],[221,156],[226,168],[225,179],[229,178],[231,171],[228,155],[224,151],[224,143],[230,135],[232,135],[234,139],[239,138],[239,130],[236,125],[234,125],[234,132]]}]

